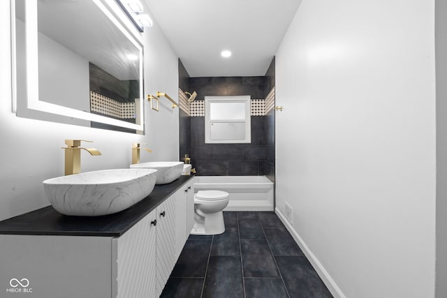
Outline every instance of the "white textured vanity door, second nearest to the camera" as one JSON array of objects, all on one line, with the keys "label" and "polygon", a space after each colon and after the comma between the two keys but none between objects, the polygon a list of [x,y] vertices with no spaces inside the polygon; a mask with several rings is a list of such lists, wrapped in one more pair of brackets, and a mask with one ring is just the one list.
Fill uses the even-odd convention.
[{"label": "white textured vanity door, second nearest to the camera", "polygon": [[175,265],[175,197],[156,207],[156,292],[163,291]]}]

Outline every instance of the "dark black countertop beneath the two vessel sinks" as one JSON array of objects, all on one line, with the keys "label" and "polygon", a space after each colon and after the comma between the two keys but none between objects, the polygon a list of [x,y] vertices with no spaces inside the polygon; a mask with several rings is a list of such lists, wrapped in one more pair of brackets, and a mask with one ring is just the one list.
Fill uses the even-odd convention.
[{"label": "dark black countertop beneath the two vessel sinks", "polygon": [[52,206],[43,207],[0,221],[0,234],[119,237],[192,177],[180,176],[170,184],[156,185],[147,198],[115,214],[66,216]]}]

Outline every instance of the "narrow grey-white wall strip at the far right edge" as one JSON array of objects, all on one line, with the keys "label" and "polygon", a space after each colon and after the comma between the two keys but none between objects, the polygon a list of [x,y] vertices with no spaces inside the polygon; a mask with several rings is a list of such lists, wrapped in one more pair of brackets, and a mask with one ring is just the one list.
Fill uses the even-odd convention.
[{"label": "narrow grey-white wall strip at the far right edge", "polygon": [[436,0],[436,297],[447,297],[447,2]]}]

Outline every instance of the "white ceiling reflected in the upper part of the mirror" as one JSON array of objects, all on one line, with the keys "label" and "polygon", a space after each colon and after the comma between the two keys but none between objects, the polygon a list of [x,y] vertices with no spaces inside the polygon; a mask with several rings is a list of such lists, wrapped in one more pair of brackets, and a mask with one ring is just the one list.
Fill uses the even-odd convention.
[{"label": "white ceiling reflected in the upper part of the mirror", "polygon": [[[24,12],[24,2],[17,3],[18,12]],[[119,80],[140,78],[138,59],[127,57],[139,57],[137,42],[132,43],[93,1],[38,1],[38,31]]]}]

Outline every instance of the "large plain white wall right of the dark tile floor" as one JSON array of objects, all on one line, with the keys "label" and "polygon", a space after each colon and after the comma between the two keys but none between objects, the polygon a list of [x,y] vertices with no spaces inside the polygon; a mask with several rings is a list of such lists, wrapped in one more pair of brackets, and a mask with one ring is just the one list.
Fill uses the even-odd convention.
[{"label": "large plain white wall right of the dark tile floor", "polygon": [[277,210],[323,280],[434,297],[434,0],[303,0],[276,72]]}]

